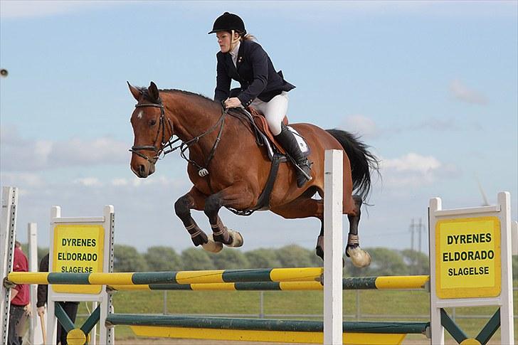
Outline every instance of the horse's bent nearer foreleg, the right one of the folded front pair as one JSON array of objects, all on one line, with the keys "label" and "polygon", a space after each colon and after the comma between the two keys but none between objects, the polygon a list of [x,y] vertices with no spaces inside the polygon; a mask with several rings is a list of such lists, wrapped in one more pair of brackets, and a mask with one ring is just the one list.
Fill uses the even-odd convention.
[{"label": "horse's bent nearer foreleg, the right one of the folded front pair", "polygon": [[230,186],[209,196],[203,210],[211,224],[213,240],[228,247],[240,247],[243,245],[243,236],[235,230],[228,229],[218,216],[223,206],[236,209],[253,207],[253,193],[250,193],[245,186]]}]

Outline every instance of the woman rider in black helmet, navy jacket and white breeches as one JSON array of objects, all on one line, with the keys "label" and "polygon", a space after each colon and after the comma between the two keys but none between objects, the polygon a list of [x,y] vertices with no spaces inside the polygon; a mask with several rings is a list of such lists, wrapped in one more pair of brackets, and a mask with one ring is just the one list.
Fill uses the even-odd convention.
[{"label": "woman rider in black helmet, navy jacket and white breeches", "polygon": [[[236,14],[225,12],[214,22],[212,31],[216,33],[221,51],[216,58],[217,85],[214,100],[223,102],[227,108],[253,105],[266,117],[268,127],[297,166],[311,179],[311,162],[303,153],[290,129],[282,120],[287,112],[287,92],[295,88],[275,72],[272,60],[263,48],[247,34],[245,23]],[[237,80],[241,87],[231,90],[231,80]],[[307,181],[305,174],[297,172],[297,186]]]}]

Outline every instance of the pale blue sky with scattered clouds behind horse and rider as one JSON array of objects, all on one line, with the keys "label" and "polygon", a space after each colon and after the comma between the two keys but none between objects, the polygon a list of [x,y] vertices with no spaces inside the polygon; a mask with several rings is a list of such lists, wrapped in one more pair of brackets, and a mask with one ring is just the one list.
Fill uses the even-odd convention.
[{"label": "pale blue sky with scattered clouds behind horse and rider", "polygon": [[[412,219],[496,203],[518,215],[517,1],[0,1],[0,184],[20,189],[18,239],[51,206],[100,216],[115,206],[115,243],[144,252],[192,243],[174,215],[191,188],[169,154],[147,179],[129,169],[135,101],[126,81],[213,97],[215,18],[243,18],[296,85],[291,122],[361,135],[381,160],[359,227],[361,245],[428,252]],[[196,212],[195,212],[196,213]],[[269,212],[223,222],[243,250],[314,248],[316,219]],[[210,231],[203,213],[194,215]],[[344,234],[347,235],[344,217]]]}]

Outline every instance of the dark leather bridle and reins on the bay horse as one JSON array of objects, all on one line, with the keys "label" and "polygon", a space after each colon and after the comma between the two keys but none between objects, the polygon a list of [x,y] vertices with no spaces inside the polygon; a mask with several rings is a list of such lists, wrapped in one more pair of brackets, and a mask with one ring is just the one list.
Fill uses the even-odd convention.
[{"label": "dark leather bridle and reins on the bay horse", "polygon": [[[157,163],[157,161],[159,159],[162,159],[166,154],[169,154],[169,153],[175,151],[176,149],[180,149],[180,156],[183,159],[185,159],[186,161],[188,161],[189,163],[196,166],[196,168],[198,169],[199,176],[203,177],[203,176],[208,175],[208,170],[207,170],[208,164],[211,162],[211,159],[213,158],[214,154],[216,154],[216,148],[218,147],[218,144],[221,141],[221,134],[223,134],[223,126],[225,125],[225,115],[227,114],[227,109],[225,109],[223,111],[223,113],[221,114],[221,117],[219,117],[218,121],[211,128],[207,129],[205,132],[203,132],[202,134],[199,134],[198,136],[194,137],[193,139],[190,139],[186,142],[181,142],[181,144],[177,145],[176,147],[173,147],[173,145],[176,142],[179,142],[180,138],[176,138],[176,139],[172,140],[172,138],[174,136],[173,125],[171,124],[171,120],[169,120],[169,118],[166,118],[166,116],[165,116],[164,105],[162,104],[162,100],[159,100],[158,103],[137,104],[137,105],[135,105],[135,107],[136,108],[140,108],[140,107],[160,108],[160,120],[159,120],[160,123],[159,123],[158,131],[157,131],[157,137],[155,137],[154,142],[157,142],[157,139],[160,134],[160,129],[162,129],[162,141],[160,142],[159,148],[154,146],[154,144],[153,145],[143,145],[143,146],[132,146],[132,148],[129,149],[129,152],[137,154],[137,156],[140,156],[140,157],[146,159],[147,161],[149,161],[149,163],[154,165]],[[171,137],[169,137],[169,139],[166,139],[166,134],[165,134],[166,121],[165,120],[167,120],[167,124],[169,125],[169,132],[171,133]],[[214,142],[214,144],[212,146],[211,152],[208,154],[208,158],[206,159],[204,166],[201,166],[201,165],[197,164],[196,161],[193,161],[193,160],[187,158],[187,156],[185,155],[186,150],[189,149],[189,147],[191,147],[192,145],[199,142],[199,139],[201,139],[202,137],[205,137],[206,134],[208,134],[208,133],[212,132],[214,129],[216,129],[216,127],[218,127],[218,124],[220,125],[218,137],[216,137],[216,141]],[[169,149],[166,149],[166,148],[169,148]],[[149,156],[139,152],[142,150],[154,151],[155,155],[152,158],[149,158]]]}]

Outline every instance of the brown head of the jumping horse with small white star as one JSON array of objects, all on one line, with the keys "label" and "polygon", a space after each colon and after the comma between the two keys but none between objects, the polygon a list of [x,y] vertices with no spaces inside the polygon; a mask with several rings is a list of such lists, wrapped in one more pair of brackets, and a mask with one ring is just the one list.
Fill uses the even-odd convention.
[{"label": "brown head of the jumping horse with small white star", "polygon": [[164,145],[173,135],[171,122],[166,119],[164,105],[155,83],[149,87],[134,87],[128,83],[129,91],[137,100],[132,113],[134,142],[131,169],[135,175],[146,178],[154,173],[155,164],[164,150]]}]

